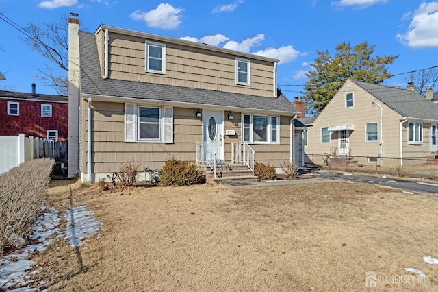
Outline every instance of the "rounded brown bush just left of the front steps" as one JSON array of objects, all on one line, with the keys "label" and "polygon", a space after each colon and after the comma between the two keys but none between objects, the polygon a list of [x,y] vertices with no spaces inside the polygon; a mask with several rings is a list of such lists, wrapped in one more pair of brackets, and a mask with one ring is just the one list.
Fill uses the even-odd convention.
[{"label": "rounded brown bush just left of the front steps", "polygon": [[205,183],[205,174],[195,163],[171,158],[159,170],[159,181],[166,186],[190,186]]}]

